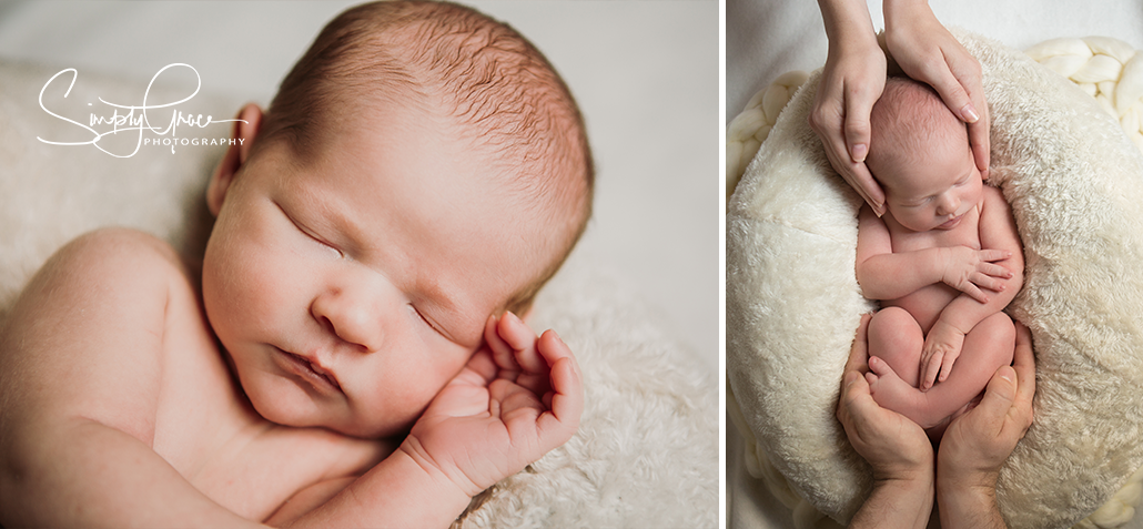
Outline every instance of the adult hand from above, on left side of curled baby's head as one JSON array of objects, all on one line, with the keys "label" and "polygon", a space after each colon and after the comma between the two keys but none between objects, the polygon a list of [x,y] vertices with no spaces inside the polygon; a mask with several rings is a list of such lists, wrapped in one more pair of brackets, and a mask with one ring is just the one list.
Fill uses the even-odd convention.
[{"label": "adult hand from above, on left side of curled baby's head", "polygon": [[885,215],[885,192],[869,168],[869,114],[885,89],[885,51],[877,43],[864,1],[820,0],[830,50],[809,113],[809,126],[825,147],[830,165]]}]

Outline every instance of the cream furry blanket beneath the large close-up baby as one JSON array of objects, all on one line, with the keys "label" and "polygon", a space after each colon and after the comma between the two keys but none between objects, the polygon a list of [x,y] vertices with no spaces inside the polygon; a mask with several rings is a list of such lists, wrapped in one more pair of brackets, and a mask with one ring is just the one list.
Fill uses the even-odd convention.
[{"label": "cream furry blanket beneath the large close-up baby", "polygon": [[[48,256],[80,233],[131,226],[191,259],[201,258],[209,234],[202,193],[221,147],[142,147],[112,158],[90,145],[41,143],[38,136],[90,138],[37,104],[54,73],[0,62],[0,319]],[[63,99],[66,85],[53,86],[58,94],[49,107],[79,120],[96,96],[138,102],[145,88],[83,72]],[[152,95],[177,101],[185,93],[159,87]],[[199,95],[181,109],[229,118],[239,103]],[[162,115],[165,126],[169,114]],[[222,125],[201,136],[229,134]],[[580,359],[586,408],[578,433],[479,496],[456,527],[717,524],[718,386],[650,310],[592,263],[590,255],[573,255],[541,292],[533,321],[558,329]]]}]

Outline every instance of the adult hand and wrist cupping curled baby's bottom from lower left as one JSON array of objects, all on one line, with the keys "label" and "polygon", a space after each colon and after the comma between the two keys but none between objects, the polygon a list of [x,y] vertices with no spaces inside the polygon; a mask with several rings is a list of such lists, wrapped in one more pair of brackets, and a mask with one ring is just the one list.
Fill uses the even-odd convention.
[{"label": "adult hand and wrist cupping curled baby's bottom from lower left", "polygon": [[925,527],[933,511],[933,447],[917,423],[873,401],[862,316],[841,382],[838,420],[857,454],[873,467],[873,491],[850,527]]}]

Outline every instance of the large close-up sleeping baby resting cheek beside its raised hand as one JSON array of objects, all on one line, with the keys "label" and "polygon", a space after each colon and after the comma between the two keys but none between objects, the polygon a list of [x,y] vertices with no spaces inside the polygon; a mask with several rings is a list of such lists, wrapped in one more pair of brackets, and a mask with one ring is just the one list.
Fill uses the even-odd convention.
[{"label": "large close-up sleeping baby resting cheek beside its raised hand", "polygon": [[239,118],[201,267],[103,230],[10,312],[0,524],[447,527],[576,431],[572,351],[515,315],[591,210],[538,50],[461,6],[360,6]]}]

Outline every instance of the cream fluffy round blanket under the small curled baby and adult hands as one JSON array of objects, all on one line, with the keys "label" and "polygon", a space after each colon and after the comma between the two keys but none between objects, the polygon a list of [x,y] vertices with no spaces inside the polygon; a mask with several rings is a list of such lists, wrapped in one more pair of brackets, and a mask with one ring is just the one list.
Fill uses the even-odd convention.
[{"label": "cream fluffy round blanket under the small curled baby and adult hands", "polygon": [[[1143,465],[1143,157],[1068,80],[1024,54],[958,33],[980,61],[992,115],[992,183],[1026,261],[1010,312],[1032,330],[1036,423],[1000,474],[1012,527],[1068,527]],[[829,167],[806,82],[727,214],[727,374],[774,467],[848,521],[869,468],[833,417],[861,313],[860,199]]]}]

